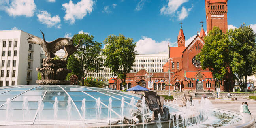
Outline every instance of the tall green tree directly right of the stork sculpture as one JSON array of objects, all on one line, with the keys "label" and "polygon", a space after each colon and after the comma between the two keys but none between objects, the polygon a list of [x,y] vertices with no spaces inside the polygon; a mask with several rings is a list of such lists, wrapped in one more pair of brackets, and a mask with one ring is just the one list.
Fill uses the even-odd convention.
[{"label": "tall green tree directly right of the stork sculpture", "polygon": [[78,50],[75,52],[75,57],[73,57],[74,61],[69,58],[70,65],[68,67],[82,81],[82,85],[84,85],[83,78],[87,77],[89,71],[98,73],[102,70],[101,67],[103,66],[101,43],[93,41],[93,39],[94,36],[85,33],[73,36],[75,45],[78,44],[79,40],[81,42]]}]

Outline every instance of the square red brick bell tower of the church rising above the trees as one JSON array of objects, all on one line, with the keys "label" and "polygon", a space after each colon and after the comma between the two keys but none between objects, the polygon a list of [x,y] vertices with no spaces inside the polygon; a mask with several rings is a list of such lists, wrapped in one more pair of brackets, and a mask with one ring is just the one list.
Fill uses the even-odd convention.
[{"label": "square red brick bell tower of the church rising above the trees", "polygon": [[205,0],[207,33],[214,26],[218,26],[222,32],[228,30],[228,0]]}]

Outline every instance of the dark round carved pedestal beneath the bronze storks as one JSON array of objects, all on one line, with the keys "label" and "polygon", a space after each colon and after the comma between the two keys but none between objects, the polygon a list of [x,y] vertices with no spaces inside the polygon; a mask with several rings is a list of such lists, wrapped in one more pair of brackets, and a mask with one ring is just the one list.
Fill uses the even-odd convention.
[{"label": "dark round carved pedestal beneath the bronze storks", "polygon": [[67,69],[66,60],[55,60],[53,58],[43,59],[43,68],[36,68],[41,74],[41,80],[36,83],[40,85],[69,85],[66,76],[71,70]]}]

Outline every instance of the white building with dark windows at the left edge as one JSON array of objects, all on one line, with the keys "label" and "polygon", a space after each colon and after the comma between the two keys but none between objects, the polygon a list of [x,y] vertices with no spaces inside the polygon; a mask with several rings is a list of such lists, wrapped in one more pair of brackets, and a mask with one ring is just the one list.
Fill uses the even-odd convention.
[{"label": "white building with dark windows at the left edge", "polygon": [[27,42],[22,30],[0,31],[0,86],[36,84],[41,46]]}]

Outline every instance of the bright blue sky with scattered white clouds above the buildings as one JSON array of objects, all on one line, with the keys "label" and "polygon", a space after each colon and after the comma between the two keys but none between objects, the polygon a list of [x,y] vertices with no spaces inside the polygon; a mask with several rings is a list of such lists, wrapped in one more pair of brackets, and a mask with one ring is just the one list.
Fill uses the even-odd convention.
[{"label": "bright blue sky with scattered white clouds above the buildings", "polygon": [[[204,0],[0,0],[0,30],[18,29],[47,41],[87,32],[103,42],[124,34],[137,42],[140,53],[177,46],[182,21],[186,44],[206,21]],[[228,0],[229,28],[242,23],[256,32],[256,0]],[[206,31],[206,26],[204,23]]]}]

